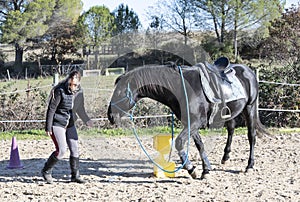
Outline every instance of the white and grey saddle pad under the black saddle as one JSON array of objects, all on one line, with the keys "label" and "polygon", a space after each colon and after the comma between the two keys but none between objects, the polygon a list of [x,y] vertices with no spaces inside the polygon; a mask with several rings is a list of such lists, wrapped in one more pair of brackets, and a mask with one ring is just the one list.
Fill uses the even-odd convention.
[{"label": "white and grey saddle pad under the black saddle", "polygon": [[[217,98],[214,91],[210,87],[210,78],[208,78],[208,73],[206,74],[203,72],[203,68],[199,68],[200,76],[201,76],[201,84],[203,86],[204,93],[208,100],[212,103],[221,103],[222,100],[220,98]],[[228,74],[226,74],[228,80],[231,82],[231,84],[227,82],[222,82],[221,87],[224,92],[224,100],[225,102],[231,102],[234,100],[246,98],[246,93],[243,85],[241,84],[240,80],[235,75],[235,70],[232,69],[232,71]]]}]

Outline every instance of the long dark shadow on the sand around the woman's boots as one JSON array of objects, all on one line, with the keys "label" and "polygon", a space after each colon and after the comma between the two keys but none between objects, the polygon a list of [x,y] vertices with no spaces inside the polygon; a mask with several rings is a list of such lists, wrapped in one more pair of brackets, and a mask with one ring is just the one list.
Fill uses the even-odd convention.
[{"label": "long dark shadow on the sand around the woman's boots", "polygon": [[[21,160],[23,168],[8,169],[9,161],[0,161],[0,183],[1,182],[23,182],[42,183],[41,169],[47,159],[33,158]],[[178,178],[188,178],[179,176],[176,178],[155,178],[153,166],[150,161],[128,160],[128,159],[80,159],[80,174],[83,176],[98,177],[99,182],[124,182],[124,183],[169,183],[178,182]],[[69,182],[70,167],[68,159],[60,160],[53,169],[52,175],[59,182]],[[132,179],[135,178],[135,179]],[[141,178],[141,180],[136,180]],[[178,182],[181,183],[181,182]]]}]

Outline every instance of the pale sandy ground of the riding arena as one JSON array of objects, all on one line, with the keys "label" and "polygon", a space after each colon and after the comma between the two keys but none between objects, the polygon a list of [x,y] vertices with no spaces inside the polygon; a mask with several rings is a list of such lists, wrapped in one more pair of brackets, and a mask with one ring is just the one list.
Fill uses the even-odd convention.
[{"label": "pale sandy ground of the riding arena", "polygon": [[[149,151],[151,140],[143,138]],[[184,170],[177,172],[175,178],[154,177],[153,165],[134,137],[80,137],[80,170],[87,183],[68,182],[66,156],[55,167],[56,180],[51,185],[40,175],[53,150],[50,139],[17,140],[23,169],[6,168],[12,141],[2,141],[0,201],[300,201],[300,134],[258,138],[255,168],[247,173],[244,169],[249,146],[245,135],[234,137],[231,158],[225,165],[220,161],[226,137],[203,140],[213,167],[203,180],[192,179]],[[190,159],[200,176],[201,163],[194,144]]]}]

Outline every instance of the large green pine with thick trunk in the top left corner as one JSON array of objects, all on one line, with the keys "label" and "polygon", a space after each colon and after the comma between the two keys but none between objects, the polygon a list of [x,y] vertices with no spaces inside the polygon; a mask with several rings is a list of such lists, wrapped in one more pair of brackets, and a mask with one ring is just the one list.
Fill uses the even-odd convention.
[{"label": "large green pine with thick trunk in the top left corner", "polygon": [[25,42],[43,35],[55,0],[15,0],[0,3],[1,42],[15,45],[15,71],[22,70]]}]

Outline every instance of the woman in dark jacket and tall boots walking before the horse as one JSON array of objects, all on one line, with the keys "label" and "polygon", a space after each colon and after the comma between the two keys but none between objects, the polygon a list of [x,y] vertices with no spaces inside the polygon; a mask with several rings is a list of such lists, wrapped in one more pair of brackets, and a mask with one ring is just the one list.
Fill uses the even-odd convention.
[{"label": "woman in dark jacket and tall boots walking before the horse", "polygon": [[76,113],[86,125],[92,126],[93,123],[85,112],[80,79],[80,72],[73,71],[50,93],[45,130],[52,138],[56,150],[42,169],[43,178],[49,184],[53,183],[52,169],[63,158],[67,147],[70,150],[71,182],[85,182],[79,175],[78,134],[74,123],[77,119]]}]

